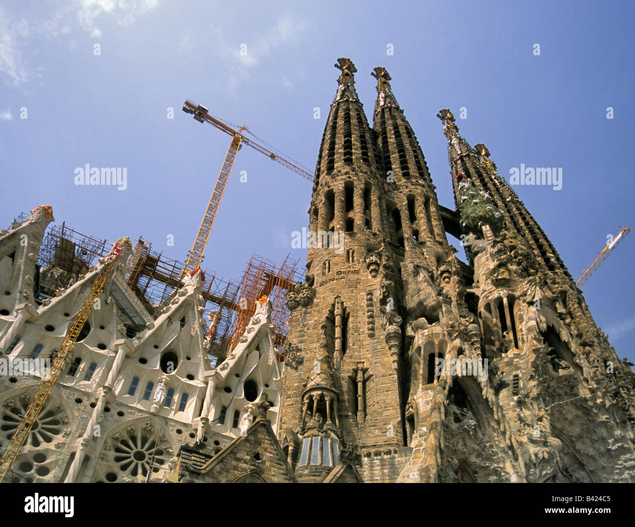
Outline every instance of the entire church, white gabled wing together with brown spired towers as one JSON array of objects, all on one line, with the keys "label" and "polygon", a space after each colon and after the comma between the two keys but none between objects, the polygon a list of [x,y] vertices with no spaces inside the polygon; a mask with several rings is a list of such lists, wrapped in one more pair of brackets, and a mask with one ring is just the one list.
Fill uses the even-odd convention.
[{"label": "entire church, white gabled wing together with brown spired towers", "polygon": [[[211,367],[202,273],[153,317],[126,287],[123,252],[15,481],[635,481],[635,375],[488,149],[439,111],[455,210],[439,205],[388,72],[372,72],[371,126],[356,67],[336,67],[284,362],[262,298]],[[0,232],[0,359],[55,353],[100,270],[36,303],[51,220],[39,207]],[[38,382],[0,376],[0,448]]]}]

